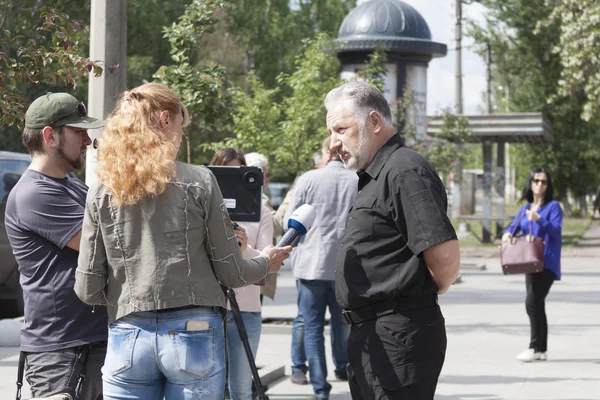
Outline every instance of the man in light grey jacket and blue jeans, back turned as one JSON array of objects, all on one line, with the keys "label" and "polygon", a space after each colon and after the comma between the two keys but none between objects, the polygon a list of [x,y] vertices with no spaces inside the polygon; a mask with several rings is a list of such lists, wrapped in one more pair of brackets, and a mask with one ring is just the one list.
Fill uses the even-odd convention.
[{"label": "man in light grey jacket and blue jeans, back turned", "polygon": [[[335,298],[335,260],[342,246],[344,225],[356,197],[358,183],[356,174],[345,169],[337,153],[329,150],[329,143],[330,138],[327,137],[322,147],[323,167],[298,178],[285,219],[287,221],[293,210],[302,204],[310,204],[317,211],[310,231],[300,239],[291,257],[298,288],[298,315],[304,322],[304,352],[317,399],[327,399],[331,391],[327,382],[323,337],[327,308],[331,315],[334,373],[336,378],[348,380],[348,327],[342,320],[342,309]],[[295,357],[292,345],[294,364]],[[302,373],[301,369],[292,370],[292,382],[304,377],[305,372]]]}]

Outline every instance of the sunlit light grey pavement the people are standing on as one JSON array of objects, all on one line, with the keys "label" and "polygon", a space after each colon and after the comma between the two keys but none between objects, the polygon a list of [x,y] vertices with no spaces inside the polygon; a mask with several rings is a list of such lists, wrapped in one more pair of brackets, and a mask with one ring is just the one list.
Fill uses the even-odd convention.
[{"label": "sunlit light grey pavement the people are standing on", "polygon": [[[436,400],[597,400],[600,399],[600,221],[586,232],[574,254],[562,258],[562,281],[547,299],[548,361],[520,363],[515,356],[528,345],[522,275],[504,276],[494,258],[465,258],[463,281],[440,297],[446,317],[448,351]],[[296,288],[289,270],[280,273],[277,302],[265,300],[263,319],[291,320]],[[2,333],[0,332],[0,335]],[[332,400],[350,399],[346,382],[332,378],[331,347],[326,330]],[[310,385],[294,385],[290,375],[291,325],[265,323],[257,364],[271,378],[271,400],[310,399]],[[18,349],[0,348],[0,399],[14,397]],[[245,360],[240,360],[245,362]],[[286,376],[281,378],[281,371]],[[25,398],[27,398],[25,396]]]}]

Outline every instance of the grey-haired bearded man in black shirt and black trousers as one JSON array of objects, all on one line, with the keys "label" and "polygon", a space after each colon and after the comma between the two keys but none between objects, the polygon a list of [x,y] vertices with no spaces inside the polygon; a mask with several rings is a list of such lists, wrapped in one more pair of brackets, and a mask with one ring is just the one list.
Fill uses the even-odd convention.
[{"label": "grey-haired bearded man in black shirt and black trousers", "polygon": [[383,94],[365,82],[325,99],[331,149],[358,171],[336,270],[351,324],[353,399],[433,399],[446,353],[437,295],[458,275],[456,233],[435,169],[394,133]]}]

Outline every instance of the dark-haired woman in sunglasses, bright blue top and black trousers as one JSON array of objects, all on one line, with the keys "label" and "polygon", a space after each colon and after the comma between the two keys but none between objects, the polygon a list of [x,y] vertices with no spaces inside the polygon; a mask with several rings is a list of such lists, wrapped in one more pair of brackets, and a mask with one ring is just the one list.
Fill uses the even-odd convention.
[{"label": "dark-haired woman in sunglasses, bright blue top and black trousers", "polygon": [[[545,361],[548,347],[548,322],[546,320],[546,296],[554,280],[560,280],[560,251],[562,248],[562,209],[553,197],[552,179],[544,168],[529,173],[520,201],[525,204],[506,228],[502,240],[510,240],[512,233],[544,238],[544,269],[527,274],[525,284],[527,298],[525,308],[529,315],[531,341],[529,349],[517,356],[519,361]],[[527,218],[525,218],[525,216]],[[530,223],[532,224],[530,225]],[[533,227],[531,232],[530,226]],[[516,229],[515,229],[516,228]]]}]

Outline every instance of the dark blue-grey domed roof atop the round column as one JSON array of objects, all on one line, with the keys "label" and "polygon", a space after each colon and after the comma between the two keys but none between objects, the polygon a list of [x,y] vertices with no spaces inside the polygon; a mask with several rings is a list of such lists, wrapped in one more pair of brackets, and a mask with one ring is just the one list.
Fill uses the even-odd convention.
[{"label": "dark blue-grey domed roof atop the round column", "polygon": [[372,51],[377,43],[392,53],[446,55],[443,43],[431,40],[427,22],[401,0],[370,0],[344,18],[336,42],[340,52]]}]

